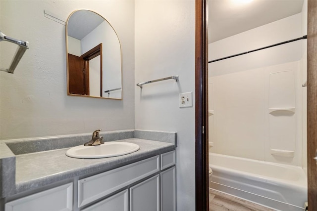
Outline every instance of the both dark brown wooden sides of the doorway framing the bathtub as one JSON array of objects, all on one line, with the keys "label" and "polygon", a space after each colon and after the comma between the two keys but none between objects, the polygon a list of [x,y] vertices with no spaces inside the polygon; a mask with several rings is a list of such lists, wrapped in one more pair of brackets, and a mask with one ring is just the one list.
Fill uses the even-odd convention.
[{"label": "both dark brown wooden sides of the doorway framing the bathtub", "polygon": [[[208,194],[208,2],[195,0],[196,211],[209,211]],[[203,131],[203,127],[205,130]],[[309,210],[317,210],[317,0],[308,0],[307,162]]]}]

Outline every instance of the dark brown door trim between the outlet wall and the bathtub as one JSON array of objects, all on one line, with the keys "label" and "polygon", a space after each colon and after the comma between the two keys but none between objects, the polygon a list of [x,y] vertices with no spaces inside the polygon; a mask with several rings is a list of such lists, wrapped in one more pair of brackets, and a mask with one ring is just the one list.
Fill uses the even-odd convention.
[{"label": "dark brown door trim between the outlet wall and the bathtub", "polygon": [[208,192],[208,1],[196,0],[195,108],[196,211],[209,211]]}]

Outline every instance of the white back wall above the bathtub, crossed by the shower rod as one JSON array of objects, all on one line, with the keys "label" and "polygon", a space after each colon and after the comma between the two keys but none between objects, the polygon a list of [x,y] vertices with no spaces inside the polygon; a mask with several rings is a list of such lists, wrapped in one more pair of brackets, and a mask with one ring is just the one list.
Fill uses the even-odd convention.
[{"label": "white back wall above the bathtub, crossed by the shower rod", "polygon": [[[266,24],[209,45],[210,59],[253,50],[302,36],[301,13]],[[211,152],[255,160],[303,165],[302,142],[302,44],[297,41],[209,64]],[[273,73],[292,71],[277,86]],[[292,79],[292,77],[295,77]],[[294,86],[284,107],[295,114],[276,117],[269,114],[272,87]],[[281,96],[286,99],[283,90]],[[292,101],[294,100],[294,101]],[[294,103],[291,103],[294,102]],[[275,103],[274,106],[276,106]],[[281,103],[280,103],[281,104]],[[274,107],[273,106],[273,107]],[[288,118],[288,119],[287,119]],[[285,124],[281,123],[285,121]],[[287,124],[288,127],[284,128]],[[278,125],[272,127],[274,124]],[[277,138],[287,134],[289,138]],[[295,151],[294,157],[271,155],[270,149]]]}]

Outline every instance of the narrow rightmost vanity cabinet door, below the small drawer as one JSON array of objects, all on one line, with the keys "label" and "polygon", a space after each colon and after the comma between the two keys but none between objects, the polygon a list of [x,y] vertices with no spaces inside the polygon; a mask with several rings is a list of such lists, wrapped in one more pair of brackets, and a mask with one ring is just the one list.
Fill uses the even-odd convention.
[{"label": "narrow rightmost vanity cabinet door, below the small drawer", "polygon": [[176,211],[176,169],[160,173],[160,210]]}]

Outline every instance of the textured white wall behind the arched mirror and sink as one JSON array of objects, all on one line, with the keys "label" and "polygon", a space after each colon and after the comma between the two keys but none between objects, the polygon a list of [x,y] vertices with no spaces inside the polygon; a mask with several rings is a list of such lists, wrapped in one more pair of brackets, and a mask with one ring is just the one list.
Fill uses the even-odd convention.
[{"label": "textured white wall behind the arched mirror and sink", "polygon": [[[0,1],[1,31],[30,42],[14,74],[0,72],[0,138],[134,129],[134,1]],[[123,100],[67,96],[65,26],[76,9],[92,9],[116,30],[122,45]],[[1,66],[16,45],[0,43]],[[8,47],[6,47],[8,46]],[[2,62],[3,61],[3,62]]]}]

